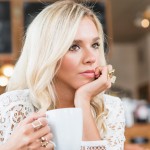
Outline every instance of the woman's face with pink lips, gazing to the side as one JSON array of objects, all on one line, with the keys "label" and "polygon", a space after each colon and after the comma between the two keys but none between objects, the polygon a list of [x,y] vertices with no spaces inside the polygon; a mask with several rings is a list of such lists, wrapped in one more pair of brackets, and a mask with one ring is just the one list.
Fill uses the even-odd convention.
[{"label": "woman's face with pink lips, gazing to the side", "polygon": [[84,17],[79,24],[75,39],[64,55],[56,74],[57,86],[78,89],[94,80],[94,70],[100,64],[100,40],[93,21]]}]

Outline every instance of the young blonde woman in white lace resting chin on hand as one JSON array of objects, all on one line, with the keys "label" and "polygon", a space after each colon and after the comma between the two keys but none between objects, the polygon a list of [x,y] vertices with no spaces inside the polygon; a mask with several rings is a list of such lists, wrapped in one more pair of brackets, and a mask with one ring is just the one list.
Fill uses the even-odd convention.
[{"label": "young blonde woman in white lace resting chin on hand", "polygon": [[114,76],[103,44],[96,15],[73,1],[56,2],[33,20],[7,92],[0,96],[0,149],[52,150],[45,112],[78,107],[81,149],[123,150],[122,102],[104,94]]}]

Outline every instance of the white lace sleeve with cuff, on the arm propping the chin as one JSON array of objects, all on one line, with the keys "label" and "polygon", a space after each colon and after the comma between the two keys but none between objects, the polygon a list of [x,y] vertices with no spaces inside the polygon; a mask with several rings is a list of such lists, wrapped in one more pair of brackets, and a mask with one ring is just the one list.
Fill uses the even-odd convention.
[{"label": "white lace sleeve with cuff, on the arm propping the chin", "polygon": [[107,134],[100,141],[85,141],[81,150],[123,150],[124,149],[124,108],[119,98],[107,96],[106,106],[109,109],[106,125]]}]

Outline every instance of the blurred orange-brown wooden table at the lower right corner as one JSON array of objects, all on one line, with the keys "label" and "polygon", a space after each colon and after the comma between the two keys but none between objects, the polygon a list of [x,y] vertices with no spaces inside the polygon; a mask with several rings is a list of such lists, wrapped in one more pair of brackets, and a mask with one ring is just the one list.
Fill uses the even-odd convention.
[{"label": "blurred orange-brown wooden table at the lower right corner", "polygon": [[125,144],[131,144],[130,140],[135,137],[145,137],[149,139],[147,144],[139,144],[143,148],[150,149],[150,123],[149,124],[135,124],[125,130],[126,142]]}]

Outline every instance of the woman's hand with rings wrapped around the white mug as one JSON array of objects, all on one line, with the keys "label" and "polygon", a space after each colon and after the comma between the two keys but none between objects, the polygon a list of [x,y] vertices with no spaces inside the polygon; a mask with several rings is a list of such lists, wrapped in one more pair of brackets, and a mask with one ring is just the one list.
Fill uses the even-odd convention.
[{"label": "woman's hand with rings wrapped around the white mug", "polygon": [[52,133],[46,115],[37,113],[18,124],[3,149],[53,150],[54,145],[49,142],[51,139]]}]

